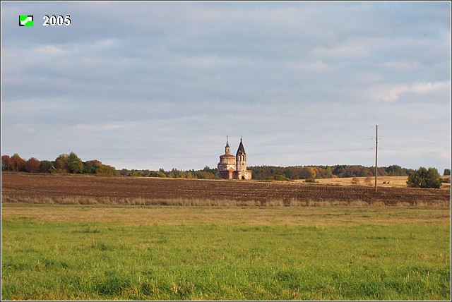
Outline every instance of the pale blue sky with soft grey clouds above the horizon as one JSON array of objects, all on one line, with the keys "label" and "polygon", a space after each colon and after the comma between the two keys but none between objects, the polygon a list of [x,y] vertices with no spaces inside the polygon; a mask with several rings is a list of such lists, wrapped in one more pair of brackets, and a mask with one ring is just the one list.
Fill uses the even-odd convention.
[{"label": "pale blue sky with soft grey clouds above the horizon", "polygon": [[248,166],[372,167],[377,137],[379,167],[451,169],[451,3],[1,1],[2,155],[203,169],[227,136]]}]

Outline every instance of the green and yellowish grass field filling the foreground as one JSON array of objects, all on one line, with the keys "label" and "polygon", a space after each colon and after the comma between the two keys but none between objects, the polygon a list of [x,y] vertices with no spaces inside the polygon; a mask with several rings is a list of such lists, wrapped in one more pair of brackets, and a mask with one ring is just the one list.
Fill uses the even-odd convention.
[{"label": "green and yellowish grass field filling the foreground", "polygon": [[2,300],[447,300],[450,207],[3,204]]}]

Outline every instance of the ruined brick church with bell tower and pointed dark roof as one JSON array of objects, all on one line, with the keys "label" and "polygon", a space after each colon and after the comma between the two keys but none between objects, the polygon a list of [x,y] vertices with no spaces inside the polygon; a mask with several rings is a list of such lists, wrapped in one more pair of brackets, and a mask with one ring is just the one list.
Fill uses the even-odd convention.
[{"label": "ruined brick church with bell tower and pointed dark roof", "polygon": [[234,156],[231,154],[229,140],[226,137],[225,154],[220,156],[217,175],[220,179],[251,179],[251,171],[246,170],[246,152],[242,138]]}]

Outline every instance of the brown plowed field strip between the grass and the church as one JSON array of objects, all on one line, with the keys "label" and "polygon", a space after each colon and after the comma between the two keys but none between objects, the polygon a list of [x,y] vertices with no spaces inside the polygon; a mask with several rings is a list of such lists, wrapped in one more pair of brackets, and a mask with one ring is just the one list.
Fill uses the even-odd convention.
[{"label": "brown plowed field strip between the grass and the church", "polygon": [[[59,203],[61,198],[85,198],[90,203],[127,203],[137,198],[158,200],[216,200],[228,205],[255,202],[258,205],[280,200],[309,203],[378,203],[384,205],[449,205],[451,191],[417,188],[374,188],[366,186],[321,186],[306,183],[225,181],[198,179],[157,179],[99,176],[52,176],[2,174],[2,200],[9,202]],[[46,201],[44,201],[46,202]],[[146,203],[147,204],[147,203]],[[153,203],[150,203],[153,204]]]}]

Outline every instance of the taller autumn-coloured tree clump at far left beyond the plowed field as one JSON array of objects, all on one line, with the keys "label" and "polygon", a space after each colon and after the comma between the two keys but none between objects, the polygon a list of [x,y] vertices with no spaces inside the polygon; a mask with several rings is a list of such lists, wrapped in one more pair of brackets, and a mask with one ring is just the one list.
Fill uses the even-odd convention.
[{"label": "taller autumn-coloured tree clump at far left beyond the plowed field", "polygon": [[114,167],[102,164],[96,159],[83,162],[74,152],[61,154],[52,161],[39,160],[35,157],[25,160],[17,153],[11,157],[1,155],[1,171],[119,176],[119,171]]}]

